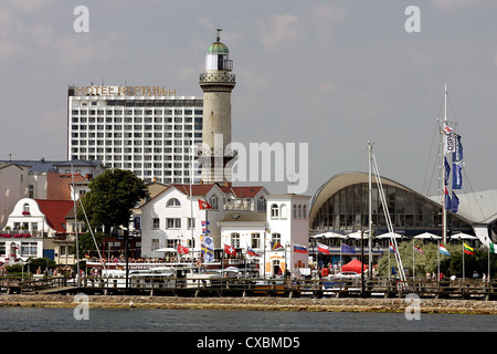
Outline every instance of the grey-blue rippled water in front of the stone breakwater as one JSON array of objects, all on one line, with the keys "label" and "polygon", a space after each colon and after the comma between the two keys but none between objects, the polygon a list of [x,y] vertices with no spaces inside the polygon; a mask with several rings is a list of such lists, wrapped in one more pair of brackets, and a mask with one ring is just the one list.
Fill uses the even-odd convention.
[{"label": "grey-blue rippled water in front of the stone breakwater", "polygon": [[2,332],[459,332],[496,331],[497,315],[214,310],[0,309]]}]

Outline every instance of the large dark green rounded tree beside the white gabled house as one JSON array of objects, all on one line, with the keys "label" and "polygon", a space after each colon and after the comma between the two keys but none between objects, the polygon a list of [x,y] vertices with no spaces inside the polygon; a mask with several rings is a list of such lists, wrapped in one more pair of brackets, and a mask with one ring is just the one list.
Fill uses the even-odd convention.
[{"label": "large dark green rounded tree beside the white gabled house", "polygon": [[[89,191],[82,199],[93,229],[104,226],[106,232],[113,227],[128,228],[131,209],[145,197],[145,183],[131,171],[107,169],[89,183]],[[78,218],[82,218],[82,210]]]}]

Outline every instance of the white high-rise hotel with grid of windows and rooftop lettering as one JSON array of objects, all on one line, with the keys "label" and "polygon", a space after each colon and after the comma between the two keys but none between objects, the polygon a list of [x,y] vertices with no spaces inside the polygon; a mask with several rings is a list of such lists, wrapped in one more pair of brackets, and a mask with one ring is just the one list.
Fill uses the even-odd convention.
[{"label": "white high-rise hotel with grid of windows and rooftop lettering", "polygon": [[67,158],[102,160],[145,181],[189,184],[203,100],[163,86],[70,86]]}]

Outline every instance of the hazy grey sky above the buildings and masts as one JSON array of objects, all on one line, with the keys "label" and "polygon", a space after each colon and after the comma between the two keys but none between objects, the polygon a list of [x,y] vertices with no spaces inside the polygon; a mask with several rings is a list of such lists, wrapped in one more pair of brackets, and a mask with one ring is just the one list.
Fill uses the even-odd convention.
[{"label": "hazy grey sky above the buildings and masts", "polygon": [[[77,6],[88,9],[87,32],[74,29]],[[236,75],[233,140],[295,144],[297,154],[307,144],[296,165],[308,176],[303,194],[368,171],[368,142],[382,176],[436,194],[445,84],[464,187],[495,189],[496,13],[494,0],[2,0],[0,159],[67,158],[70,84],[126,81],[201,97],[221,28]],[[258,179],[247,184],[288,191],[288,178]]]}]

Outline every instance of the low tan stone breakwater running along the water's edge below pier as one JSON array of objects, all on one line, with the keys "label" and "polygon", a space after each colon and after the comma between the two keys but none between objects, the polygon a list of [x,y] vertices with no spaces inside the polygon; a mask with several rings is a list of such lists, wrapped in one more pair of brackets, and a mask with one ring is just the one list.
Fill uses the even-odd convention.
[{"label": "low tan stone breakwater running along the water's edge below pier", "polygon": [[[189,309],[315,312],[405,312],[419,305],[421,313],[497,314],[497,301],[420,299],[287,299],[287,298],[177,298],[137,295],[88,295],[89,309]],[[1,295],[0,306],[74,308],[72,295]]]}]

